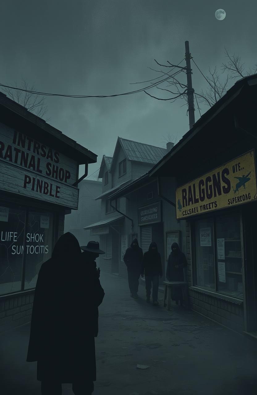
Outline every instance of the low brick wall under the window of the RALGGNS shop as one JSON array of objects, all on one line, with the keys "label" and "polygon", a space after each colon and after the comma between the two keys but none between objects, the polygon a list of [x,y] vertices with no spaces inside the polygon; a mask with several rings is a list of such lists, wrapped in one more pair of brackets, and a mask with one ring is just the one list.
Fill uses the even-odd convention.
[{"label": "low brick wall under the window of the RALGGNS shop", "polygon": [[244,331],[244,308],[242,305],[193,290],[189,290],[189,300],[192,310],[236,332],[242,333]]}]

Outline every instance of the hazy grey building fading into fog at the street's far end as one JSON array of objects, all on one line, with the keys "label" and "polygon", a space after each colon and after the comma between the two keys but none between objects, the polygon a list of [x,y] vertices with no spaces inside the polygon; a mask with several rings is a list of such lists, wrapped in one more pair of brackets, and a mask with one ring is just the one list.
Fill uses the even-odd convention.
[{"label": "hazy grey building fading into fog at the street's far end", "polygon": [[72,210],[65,216],[64,232],[74,234],[80,245],[87,245],[89,240],[99,241],[96,232],[83,228],[101,218],[101,203],[96,198],[102,192],[102,182],[83,180],[77,187],[79,188],[78,209]]}]

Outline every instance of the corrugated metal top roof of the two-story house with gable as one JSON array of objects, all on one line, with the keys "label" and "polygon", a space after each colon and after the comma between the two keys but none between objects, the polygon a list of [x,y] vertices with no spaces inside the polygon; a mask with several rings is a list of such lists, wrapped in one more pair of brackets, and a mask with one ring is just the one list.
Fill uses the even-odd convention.
[{"label": "corrugated metal top roof of the two-story house with gable", "polygon": [[138,141],[127,140],[121,137],[118,137],[118,140],[127,154],[128,160],[136,162],[156,164],[168,152],[166,148],[138,143]]}]

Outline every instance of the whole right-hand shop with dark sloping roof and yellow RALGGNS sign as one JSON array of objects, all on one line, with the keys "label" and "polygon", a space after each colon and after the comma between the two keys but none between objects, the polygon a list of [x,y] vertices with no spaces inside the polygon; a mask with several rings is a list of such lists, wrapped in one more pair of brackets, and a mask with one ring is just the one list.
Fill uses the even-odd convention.
[{"label": "whole right-hand shop with dark sloping roof and yellow RALGGNS sign", "polygon": [[176,177],[176,217],[185,220],[187,230],[191,308],[254,337],[256,136],[249,130],[256,82],[236,83],[151,173]]}]

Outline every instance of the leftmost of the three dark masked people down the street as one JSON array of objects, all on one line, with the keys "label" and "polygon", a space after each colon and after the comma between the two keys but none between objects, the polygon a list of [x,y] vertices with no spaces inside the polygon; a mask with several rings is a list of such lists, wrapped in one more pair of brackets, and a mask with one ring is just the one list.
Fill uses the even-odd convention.
[{"label": "leftmost of the three dark masked people down the street", "polygon": [[143,251],[138,245],[138,239],[133,239],[123,258],[128,270],[128,286],[130,296],[138,298],[138,285],[143,262]]}]

